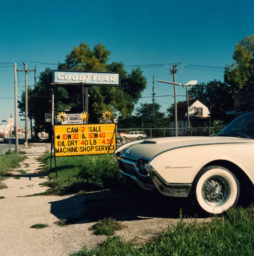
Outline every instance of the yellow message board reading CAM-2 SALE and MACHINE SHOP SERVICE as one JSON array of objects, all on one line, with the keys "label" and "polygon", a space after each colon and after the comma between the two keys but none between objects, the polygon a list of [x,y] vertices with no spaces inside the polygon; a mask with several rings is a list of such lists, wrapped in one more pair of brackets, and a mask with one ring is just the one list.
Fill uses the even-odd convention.
[{"label": "yellow message board reading CAM-2 SALE and MACHINE SHOP SERVICE", "polygon": [[113,153],[116,149],[115,128],[115,123],[56,125],[55,156]]}]

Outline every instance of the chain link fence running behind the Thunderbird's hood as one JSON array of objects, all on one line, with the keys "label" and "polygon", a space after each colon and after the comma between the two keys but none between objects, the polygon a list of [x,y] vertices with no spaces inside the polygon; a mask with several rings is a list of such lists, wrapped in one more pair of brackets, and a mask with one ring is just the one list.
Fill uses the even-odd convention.
[{"label": "chain link fence running behind the Thunderbird's hood", "polygon": [[[143,128],[143,129],[117,129],[117,133],[123,136],[123,133],[128,133],[131,131],[144,132],[147,138],[159,138],[159,137],[174,137],[175,128]],[[209,136],[212,135],[211,129],[209,127],[187,127],[178,128],[178,136]]]}]

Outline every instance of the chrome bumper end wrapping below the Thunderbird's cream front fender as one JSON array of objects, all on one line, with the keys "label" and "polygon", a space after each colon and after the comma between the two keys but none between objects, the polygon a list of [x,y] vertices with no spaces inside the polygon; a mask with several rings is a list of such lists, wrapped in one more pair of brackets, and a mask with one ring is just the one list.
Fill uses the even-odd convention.
[{"label": "chrome bumper end wrapping below the Thunderbird's cream front fender", "polygon": [[152,166],[147,165],[147,171],[156,188],[165,196],[187,197],[191,183],[167,183]]}]

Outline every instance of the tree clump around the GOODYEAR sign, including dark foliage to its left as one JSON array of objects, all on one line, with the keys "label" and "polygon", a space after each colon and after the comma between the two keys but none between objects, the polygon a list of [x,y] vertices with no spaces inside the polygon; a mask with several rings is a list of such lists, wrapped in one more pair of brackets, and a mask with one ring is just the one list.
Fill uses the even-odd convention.
[{"label": "tree clump around the GOODYEAR sign, including dark foliage to its left", "polygon": [[[81,43],[66,55],[64,63],[58,63],[58,70],[82,70],[97,72],[120,73],[121,86],[91,86],[89,88],[89,122],[100,122],[104,111],[118,113],[122,117],[131,116],[146,88],[146,78],[140,68],[126,72],[123,62],[107,64],[110,51],[103,44],[95,44],[90,49],[88,44]],[[51,124],[44,122],[45,113],[51,113],[52,95],[55,96],[55,114],[65,109],[68,113],[83,111],[82,86],[80,85],[50,85],[52,70],[45,68],[40,73],[39,82],[33,90],[29,90],[29,114],[34,118],[36,133],[42,130],[47,132]],[[24,113],[24,95],[19,101],[20,113]]]}]

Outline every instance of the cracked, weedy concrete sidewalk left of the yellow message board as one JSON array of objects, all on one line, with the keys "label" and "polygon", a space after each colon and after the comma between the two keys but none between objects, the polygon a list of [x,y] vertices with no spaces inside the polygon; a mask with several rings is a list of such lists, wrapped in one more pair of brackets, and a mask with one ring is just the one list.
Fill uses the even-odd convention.
[{"label": "cracked, weedy concrete sidewalk left of the yellow message board", "polygon": [[[1,184],[7,188],[0,190],[0,196],[5,198],[42,193],[49,189],[49,187],[39,185],[48,181],[48,178],[45,173],[38,173],[41,171],[42,163],[37,160],[39,156],[44,154],[47,147],[41,145],[40,147],[21,148],[21,150],[25,152],[24,155],[28,158],[19,163],[21,165],[19,168],[14,168],[10,172],[11,176],[4,177],[5,180]],[[21,174],[18,170],[26,171],[26,173]]]}]

